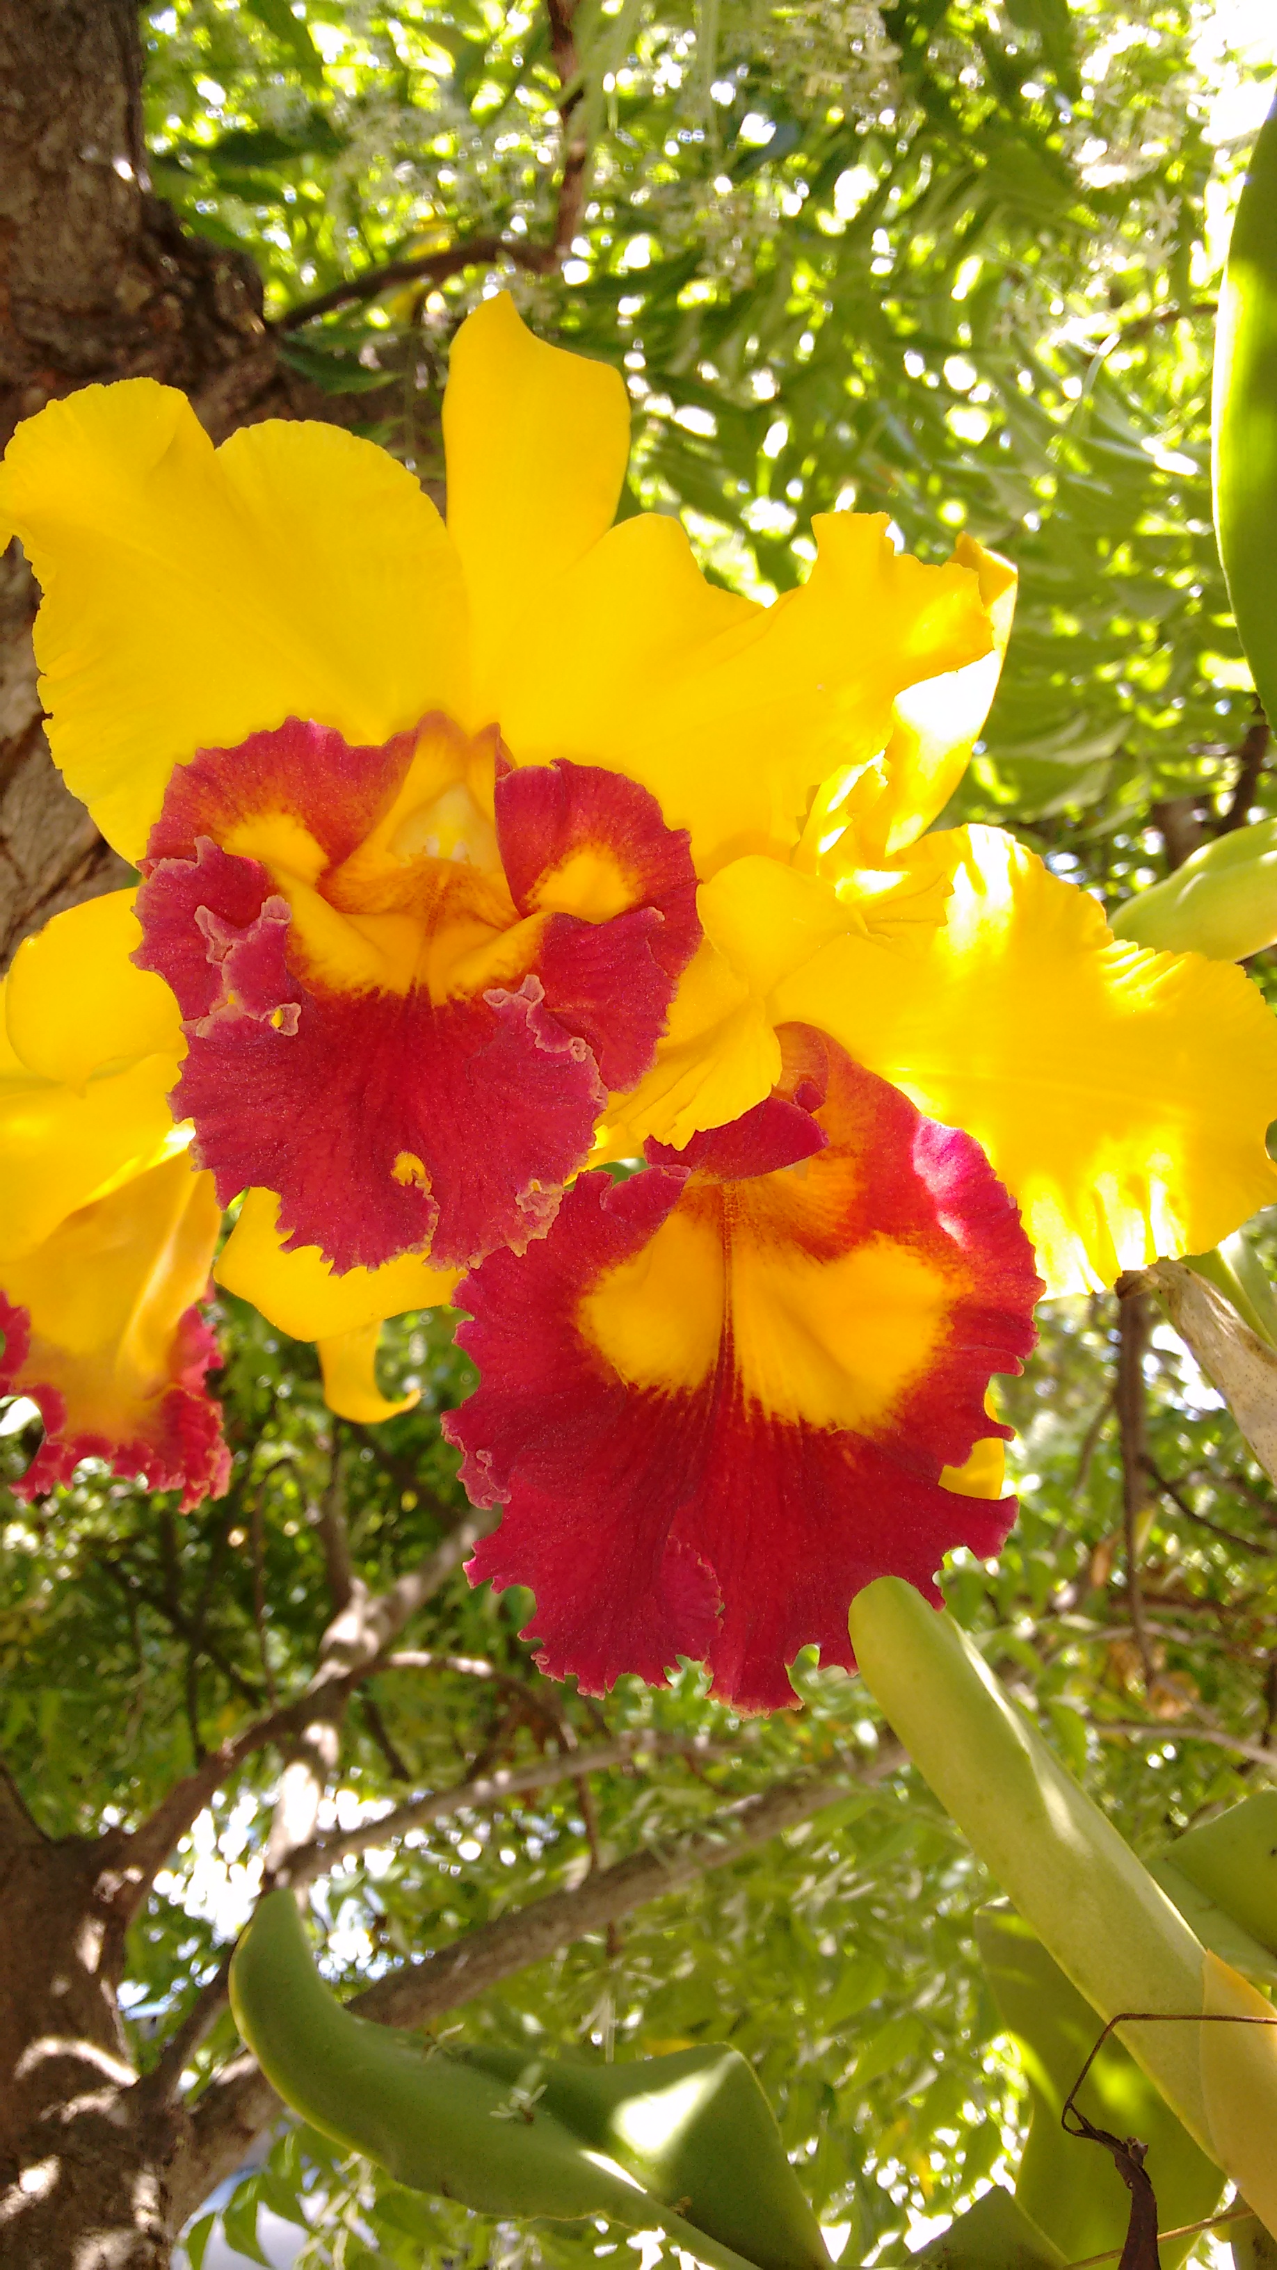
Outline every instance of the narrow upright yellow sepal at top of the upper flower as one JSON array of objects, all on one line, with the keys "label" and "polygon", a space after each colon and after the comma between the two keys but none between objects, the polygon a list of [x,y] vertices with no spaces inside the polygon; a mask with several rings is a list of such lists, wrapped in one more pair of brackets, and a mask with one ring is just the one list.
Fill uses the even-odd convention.
[{"label": "narrow upright yellow sepal at top of the upper flower", "polygon": [[548,586],[611,527],[629,456],[625,381],[611,363],[534,338],[500,293],[452,340],[443,445],[448,533],[475,627],[475,724],[491,724],[520,656],[541,651],[564,679],[577,667],[577,629]]}]

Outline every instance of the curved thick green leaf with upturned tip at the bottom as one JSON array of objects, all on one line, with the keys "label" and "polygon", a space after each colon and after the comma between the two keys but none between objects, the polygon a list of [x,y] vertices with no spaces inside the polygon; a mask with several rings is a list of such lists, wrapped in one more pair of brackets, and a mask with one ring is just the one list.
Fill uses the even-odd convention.
[{"label": "curved thick green leaf with upturned tip at the bottom", "polygon": [[286,1891],[261,1900],[236,1948],[232,2009],[284,2102],[411,2191],[489,2216],[663,2229],[709,2270],[827,2270],[766,2097],[734,2050],[600,2070],[520,2050],[427,2052],[341,2007]]}]

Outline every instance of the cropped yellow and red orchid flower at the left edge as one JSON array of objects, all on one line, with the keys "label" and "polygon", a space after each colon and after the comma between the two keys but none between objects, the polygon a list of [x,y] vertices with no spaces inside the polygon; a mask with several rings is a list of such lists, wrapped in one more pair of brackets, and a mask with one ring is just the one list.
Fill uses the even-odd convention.
[{"label": "cropped yellow and red orchid flower at the left edge", "polygon": [[166,1105],[182,1031],[136,942],[132,892],[91,899],[0,987],[0,1394],[45,1428],[20,1498],[100,1457],[189,1510],[229,1478],[200,1317],[220,1208]]}]

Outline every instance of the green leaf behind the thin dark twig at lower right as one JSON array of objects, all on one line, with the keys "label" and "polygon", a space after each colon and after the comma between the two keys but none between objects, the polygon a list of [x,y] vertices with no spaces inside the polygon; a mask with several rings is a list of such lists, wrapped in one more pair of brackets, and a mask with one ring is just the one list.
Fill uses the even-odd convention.
[{"label": "green leaf behind the thin dark twig at lower right", "polygon": [[[1009,1902],[984,1907],[975,1918],[975,1936],[1032,2091],[1016,2202],[1061,2250],[1063,2261],[1120,2247],[1132,2211],[1129,2191],[1111,2156],[1068,2136],[1059,2118],[1095,2045],[1100,2020]],[[1104,2043],[1077,2104],[1095,2127],[1113,2136],[1138,2136],[1147,2145],[1145,2168],[1163,2229],[1200,2222],[1211,2213],[1222,2193],[1220,2170],[1118,2041]],[[1163,2270],[1175,2270],[1191,2247],[1191,2238],[1163,2240]]]}]

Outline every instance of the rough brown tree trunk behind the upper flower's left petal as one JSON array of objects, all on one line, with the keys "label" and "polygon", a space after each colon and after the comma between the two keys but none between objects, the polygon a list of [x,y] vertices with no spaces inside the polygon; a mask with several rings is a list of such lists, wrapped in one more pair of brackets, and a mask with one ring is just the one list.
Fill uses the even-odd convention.
[{"label": "rough brown tree trunk behind the upper flower's left petal", "polygon": [[[248,254],[150,193],[136,0],[0,0],[0,449],[20,418],[107,379],[180,386],[225,440],[259,418],[375,415],[279,356]],[[0,543],[7,531],[0,531]],[[0,558],[0,969],[77,899],[127,881],[48,758],[18,552]]]}]

